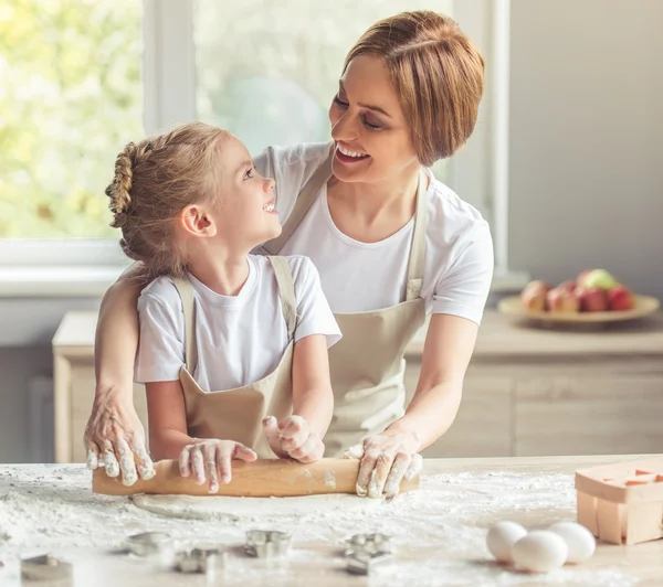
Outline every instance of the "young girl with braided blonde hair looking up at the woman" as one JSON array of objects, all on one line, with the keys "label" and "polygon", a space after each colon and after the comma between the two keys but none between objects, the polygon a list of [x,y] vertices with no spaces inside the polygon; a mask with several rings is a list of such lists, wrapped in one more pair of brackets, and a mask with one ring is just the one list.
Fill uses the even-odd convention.
[{"label": "young girl with braided blonde hair looking up at the woman", "polygon": [[[150,452],[211,493],[231,459],[319,459],[332,418],[327,349],[340,332],[315,266],[249,254],[281,233],[273,189],[241,141],[197,122],[128,143],[106,190],[122,247],[151,281],[135,365]],[[119,473],[115,455],[104,461]]]}]

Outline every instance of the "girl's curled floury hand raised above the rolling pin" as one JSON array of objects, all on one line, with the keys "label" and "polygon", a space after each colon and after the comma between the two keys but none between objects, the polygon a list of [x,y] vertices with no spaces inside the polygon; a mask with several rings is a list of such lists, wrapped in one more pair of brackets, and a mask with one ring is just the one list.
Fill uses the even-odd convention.
[{"label": "girl's curled floury hand raised above the rolling pin", "polygon": [[276,423],[274,416],[263,420],[270,448],[278,458],[314,462],[323,458],[325,445],[302,416],[290,416]]}]

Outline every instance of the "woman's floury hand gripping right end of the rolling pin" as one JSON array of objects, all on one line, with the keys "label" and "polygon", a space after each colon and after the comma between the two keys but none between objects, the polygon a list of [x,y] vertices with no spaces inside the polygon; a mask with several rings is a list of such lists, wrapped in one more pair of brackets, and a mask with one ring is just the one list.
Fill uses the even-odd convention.
[{"label": "woman's floury hand gripping right end of the rolling pin", "polygon": [[346,456],[361,459],[357,476],[357,495],[379,499],[394,498],[406,477],[412,479],[421,471],[422,458],[417,452],[413,434],[385,430],[350,447]]}]

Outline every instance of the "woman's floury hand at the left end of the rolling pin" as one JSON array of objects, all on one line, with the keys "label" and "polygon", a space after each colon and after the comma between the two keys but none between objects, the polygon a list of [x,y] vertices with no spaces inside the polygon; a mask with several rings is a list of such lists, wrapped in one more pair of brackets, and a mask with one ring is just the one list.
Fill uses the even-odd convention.
[{"label": "woman's floury hand at the left end of the rolling pin", "polygon": [[[133,394],[129,395],[133,397]],[[145,429],[131,402],[119,393],[97,394],[84,436],[87,466],[94,470],[105,467],[108,477],[122,473],[125,485],[138,477],[155,476],[152,461],[145,448]]]}]

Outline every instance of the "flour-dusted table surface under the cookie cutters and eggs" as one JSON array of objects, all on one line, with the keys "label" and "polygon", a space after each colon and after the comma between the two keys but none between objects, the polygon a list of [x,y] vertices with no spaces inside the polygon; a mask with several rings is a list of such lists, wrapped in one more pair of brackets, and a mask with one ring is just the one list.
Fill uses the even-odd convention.
[{"label": "flour-dusted table surface under the cookie cutters and eggs", "polygon": [[[200,576],[117,553],[126,536],[145,531],[169,532],[181,547],[229,546],[227,569],[215,585],[661,585],[663,541],[599,543],[587,563],[548,575],[501,567],[485,548],[487,527],[499,520],[529,529],[573,520],[578,468],[636,458],[425,459],[421,489],[378,508],[329,513],[320,506],[314,514],[206,521],[165,517],[138,510],[127,498],[93,494],[82,465],[0,466],[0,585],[20,585],[19,559],[45,553],[74,564],[76,587],[204,585]],[[240,547],[251,527],[291,532],[288,558],[269,565],[245,557]],[[348,575],[344,540],[371,531],[393,536],[393,561],[370,579]]]}]

